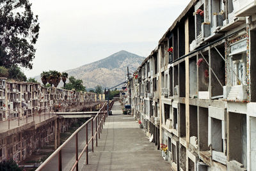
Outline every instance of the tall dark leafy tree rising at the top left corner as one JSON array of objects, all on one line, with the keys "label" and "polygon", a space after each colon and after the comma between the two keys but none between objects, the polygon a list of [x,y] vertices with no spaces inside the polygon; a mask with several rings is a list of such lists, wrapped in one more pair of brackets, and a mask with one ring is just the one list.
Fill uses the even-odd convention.
[{"label": "tall dark leafy tree rising at the top left corner", "polygon": [[0,1],[0,66],[31,69],[39,29],[28,0]]}]

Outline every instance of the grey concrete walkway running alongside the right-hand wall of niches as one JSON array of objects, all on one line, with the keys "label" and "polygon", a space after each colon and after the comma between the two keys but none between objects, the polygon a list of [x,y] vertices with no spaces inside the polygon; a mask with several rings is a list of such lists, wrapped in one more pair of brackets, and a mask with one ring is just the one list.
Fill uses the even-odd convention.
[{"label": "grey concrete walkway running alongside the right-hand wall of niches", "polygon": [[89,153],[89,165],[81,166],[82,170],[172,170],[134,118],[122,114],[119,102],[114,103],[112,111],[98,147]]}]

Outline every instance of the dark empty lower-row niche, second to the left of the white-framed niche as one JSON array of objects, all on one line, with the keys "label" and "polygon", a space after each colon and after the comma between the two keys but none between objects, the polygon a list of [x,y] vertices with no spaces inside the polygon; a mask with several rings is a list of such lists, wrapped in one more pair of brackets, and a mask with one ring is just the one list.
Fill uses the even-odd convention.
[{"label": "dark empty lower-row niche, second to the left of the white-framed niche", "polygon": [[189,105],[189,137],[197,137],[197,107]]}]

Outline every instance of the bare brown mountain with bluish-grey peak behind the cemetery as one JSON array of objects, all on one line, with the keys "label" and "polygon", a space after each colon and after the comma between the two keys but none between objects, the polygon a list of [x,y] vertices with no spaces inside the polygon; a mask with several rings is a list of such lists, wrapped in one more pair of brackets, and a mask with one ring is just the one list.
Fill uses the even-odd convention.
[{"label": "bare brown mountain with bluish-grey peak behind the cemetery", "polygon": [[[96,85],[113,87],[125,81],[127,66],[129,72],[133,73],[144,59],[145,57],[121,50],[94,63],[84,64],[65,72],[68,73],[68,77],[74,76],[83,80],[86,88],[94,88]],[[40,80],[40,77],[36,77],[36,80]]]}]

